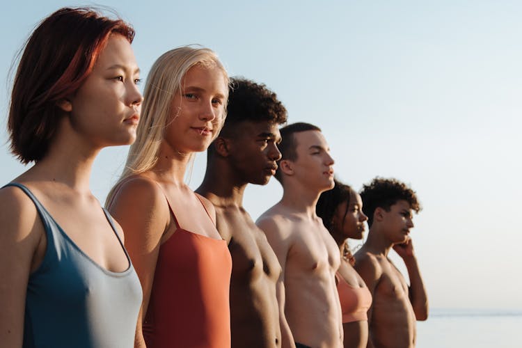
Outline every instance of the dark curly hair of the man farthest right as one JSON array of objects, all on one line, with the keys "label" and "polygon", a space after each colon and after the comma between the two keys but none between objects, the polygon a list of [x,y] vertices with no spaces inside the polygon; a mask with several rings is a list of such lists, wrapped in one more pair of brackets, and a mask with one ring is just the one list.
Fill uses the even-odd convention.
[{"label": "dark curly hair of the man farthest right", "polygon": [[416,213],[422,209],[416,192],[397,179],[375,177],[370,184],[363,186],[360,194],[363,200],[363,212],[368,216],[368,226],[372,226],[375,209],[381,207],[389,212],[390,207],[399,200],[406,200]]}]

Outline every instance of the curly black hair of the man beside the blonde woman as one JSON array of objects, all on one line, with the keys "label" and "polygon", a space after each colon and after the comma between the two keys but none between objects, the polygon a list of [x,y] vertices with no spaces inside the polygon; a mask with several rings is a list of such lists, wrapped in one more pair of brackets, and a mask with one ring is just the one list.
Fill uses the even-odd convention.
[{"label": "curly black hair of the man beside the blonde woman", "polygon": [[282,125],[287,121],[287,111],[264,84],[243,77],[232,77],[228,88],[227,117],[221,134],[230,134],[240,122],[270,122]]}]

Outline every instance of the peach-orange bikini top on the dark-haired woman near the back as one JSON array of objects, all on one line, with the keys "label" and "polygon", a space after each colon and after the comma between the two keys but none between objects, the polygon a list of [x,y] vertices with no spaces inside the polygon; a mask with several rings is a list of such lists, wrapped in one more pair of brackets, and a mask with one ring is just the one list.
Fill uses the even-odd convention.
[{"label": "peach-orange bikini top on the dark-haired woman near the back", "polygon": [[353,287],[345,278],[335,274],[337,279],[337,291],[341,303],[342,322],[360,322],[367,320],[368,308],[372,306],[372,294],[367,287]]}]

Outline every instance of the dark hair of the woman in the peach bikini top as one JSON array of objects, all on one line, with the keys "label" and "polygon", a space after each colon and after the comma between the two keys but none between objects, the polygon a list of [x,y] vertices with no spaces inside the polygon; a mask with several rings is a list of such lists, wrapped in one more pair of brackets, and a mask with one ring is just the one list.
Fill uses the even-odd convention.
[{"label": "dark hair of the woman in the peach bikini top", "polygon": [[330,232],[333,232],[331,227],[335,211],[337,210],[337,207],[344,202],[346,202],[347,205],[343,216],[346,216],[350,204],[351,191],[351,187],[347,184],[343,184],[337,179],[334,179],[333,182],[333,189],[321,193],[319,200],[317,200],[317,205],[315,205],[315,213],[322,219],[326,230],[329,230]]}]

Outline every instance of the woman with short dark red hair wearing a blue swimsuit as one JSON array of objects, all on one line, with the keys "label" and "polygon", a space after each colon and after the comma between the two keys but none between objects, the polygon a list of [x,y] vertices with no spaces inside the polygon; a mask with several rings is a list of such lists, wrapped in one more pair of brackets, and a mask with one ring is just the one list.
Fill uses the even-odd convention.
[{"label": "woman with short dark red hair wearing a blue swimsuit", "polygon": [[89,189],[100,150],[136,139],[134,30],[62,8],[32,33],[10,98],[11,150],[34,162],[0,190],[3,347],[132,347],[141,287]]}]

